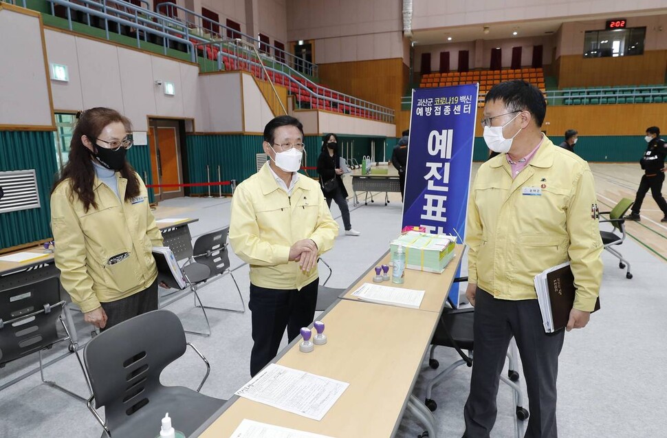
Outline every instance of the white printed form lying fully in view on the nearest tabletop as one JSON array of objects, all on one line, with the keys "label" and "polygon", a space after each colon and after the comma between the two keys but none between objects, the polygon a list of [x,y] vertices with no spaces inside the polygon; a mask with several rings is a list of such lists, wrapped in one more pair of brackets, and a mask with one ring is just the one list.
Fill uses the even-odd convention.
[{"label": "white printed form lying fully in view on the nearest tabletop", "polygon": [[320,421],[348,386],[346,382],[270,364],[235,394]]}]

